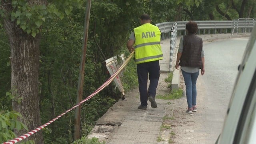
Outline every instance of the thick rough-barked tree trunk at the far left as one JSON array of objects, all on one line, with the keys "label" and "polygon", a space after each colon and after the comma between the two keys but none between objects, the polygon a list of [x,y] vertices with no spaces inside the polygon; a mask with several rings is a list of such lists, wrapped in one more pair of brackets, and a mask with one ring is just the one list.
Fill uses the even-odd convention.
[{"label": "thick rough-barked tree trunk at the far left", "polygon": [[[38,67],[39,67],[39,36],[33,38],[24,33],[16,21],[4,20],[11,49],[12,78],[11,88],[14,99],[13,110],[23,116],[20,121],[34,130],[41,126],[38,97]],[[25,134],[26,130],[16,132],[17,136]],[[42,131],[30,136],[36,144],[43,144]]]}]

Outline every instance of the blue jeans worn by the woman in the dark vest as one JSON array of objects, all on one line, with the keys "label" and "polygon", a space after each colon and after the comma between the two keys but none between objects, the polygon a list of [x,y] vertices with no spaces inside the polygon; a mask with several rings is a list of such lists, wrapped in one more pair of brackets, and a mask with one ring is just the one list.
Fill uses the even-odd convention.
[{"label": "blue jeans worn by the woman in the dark vest", "polygon": [[195,73],[185,72],[184,70],[181,70],[181,72],[186,85],[188,108],[192,108],[192,106],[196,106],[196,80],[199,75],[199,70]]}]

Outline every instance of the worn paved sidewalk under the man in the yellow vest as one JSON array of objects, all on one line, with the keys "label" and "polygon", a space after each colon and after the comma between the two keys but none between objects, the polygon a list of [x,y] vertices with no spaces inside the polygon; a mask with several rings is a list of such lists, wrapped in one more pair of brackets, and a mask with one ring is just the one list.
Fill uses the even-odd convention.
[{"label": "worn paved sidewalk under the man in the yellow vest", "polygon": [[[215,34],[199,35],[204,42],[216,39],[248,37],[249,35]],[[176,52],[180,37],[177,38],[177,46],[173,54],[172,70],[173,82],[172,88],[179,88],[179,70],[175,70]],[[169,72],[170,61],[170,40],[161,42],[164,59],[160,60],[161,76],[167,76]],[[159,84],[164,81],[159,81]],[[158,86],[157,94],[168,92],[166,88],[160,89]],[[160,130],[164,116],[172,117],[174,105],[171,100],[156,99],[157,108],[151,108],[150,102],[147,110],[139,110],[140,95],[138,88],[133,92],[126,93],[126,99],[116,102],[106,114],[104,114],[96,123],[88,138],[99,138],[106,144],[168,144],[171,130]]]}]

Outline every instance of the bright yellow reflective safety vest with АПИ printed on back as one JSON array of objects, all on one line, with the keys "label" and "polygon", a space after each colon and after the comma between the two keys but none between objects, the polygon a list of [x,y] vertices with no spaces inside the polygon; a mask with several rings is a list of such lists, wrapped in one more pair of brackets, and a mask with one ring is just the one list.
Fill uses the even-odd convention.
[{"label": "bright yellow reflective safety vest with \u0410\u041f\u0418 printed on back", "polygon": [[163,53],[160,46],[161,32],[157,26],[150,23],[134,28],[135,35],[135,63],[162,60]]}]

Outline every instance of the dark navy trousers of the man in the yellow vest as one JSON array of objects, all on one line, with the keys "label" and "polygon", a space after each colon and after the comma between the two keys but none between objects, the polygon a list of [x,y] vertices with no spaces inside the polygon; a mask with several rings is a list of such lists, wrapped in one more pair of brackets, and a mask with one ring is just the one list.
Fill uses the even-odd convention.
[{"label": "dark navy trousers of the man in the yellow vest", "polygon": [[[140,105],[147,106],[148,96],[156,96],[156,88],[160,76],[159,60],[137,64],[137,74],[140,91]],[[149,87],[148,78],[150,80]]]}]

